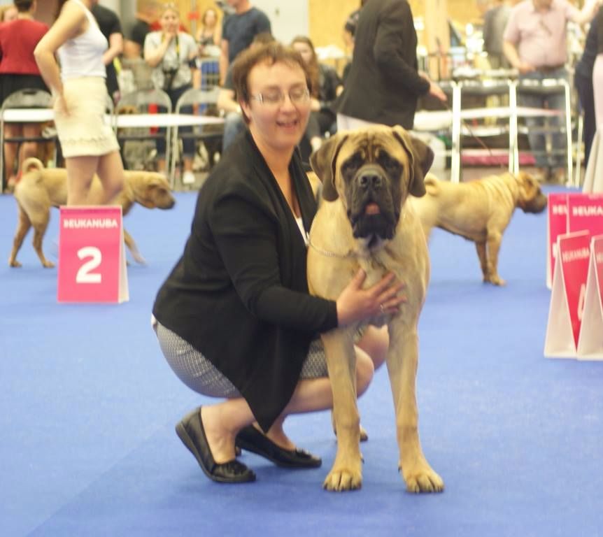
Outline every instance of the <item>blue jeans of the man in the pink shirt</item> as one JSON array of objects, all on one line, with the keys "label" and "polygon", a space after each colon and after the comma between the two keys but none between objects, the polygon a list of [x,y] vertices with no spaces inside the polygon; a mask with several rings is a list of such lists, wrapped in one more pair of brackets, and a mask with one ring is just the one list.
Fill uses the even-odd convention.
[{"label": "blue jeans of the man in the pink shirt", "polygon": [[[545,78],[561,78],[568,80],[565,69],[555,69],[549,73],[533,71],[520,75],[519,80],[538,80]],[[562,118],[565,117],[565,94],[563,90],[551,94],[522,92],[521,87],[517,89],[518,106],[529,106],[530,108],[548,108],[550,110],[562,110],[563,115],[555,117],[527,117],[527,139],[530,141],[530,148],[534,152],[536,166],[539,168],[565,168],[567,164],[567,137],[561,131]],[[551,134],[551,152],[546,152],[545,134],[534,132],[534,129],[548,127],[553,130]]]}]

